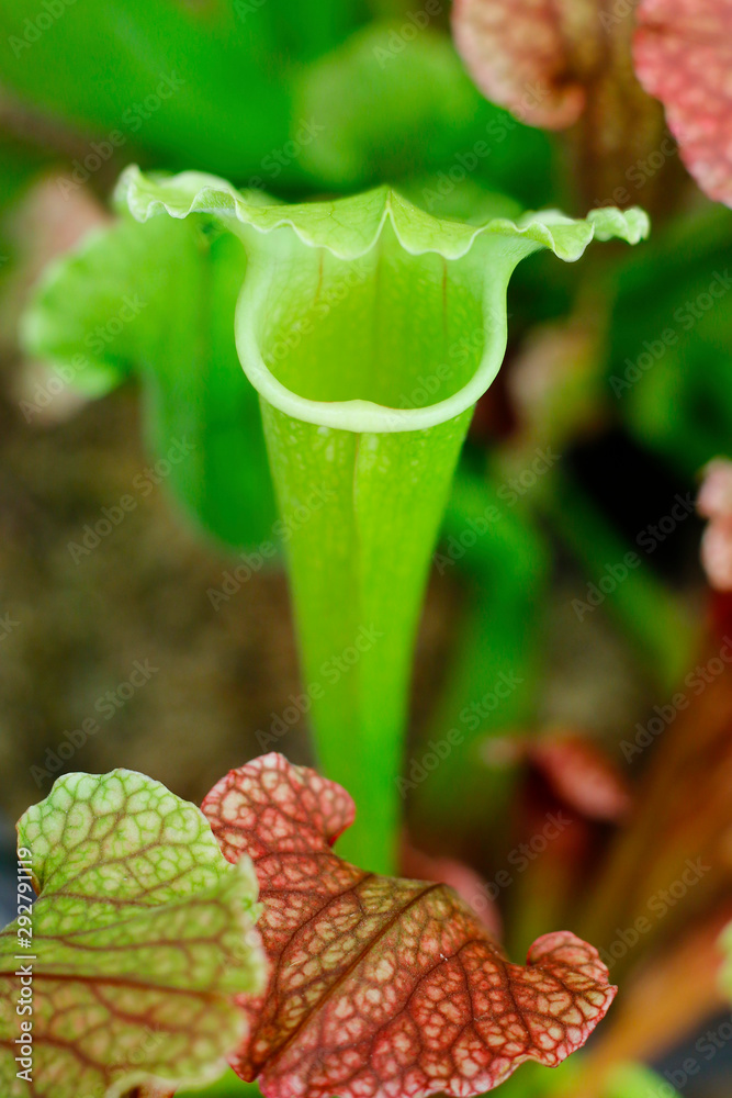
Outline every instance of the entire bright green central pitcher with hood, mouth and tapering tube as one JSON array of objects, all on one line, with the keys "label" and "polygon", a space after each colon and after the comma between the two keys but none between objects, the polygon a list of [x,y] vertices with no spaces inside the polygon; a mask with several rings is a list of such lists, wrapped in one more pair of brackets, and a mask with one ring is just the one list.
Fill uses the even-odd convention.
[{"label": "entire bright green central pitcher with hood, mouth and tapering tube", "polygon": [[[236,343],[258,390],[288,546],[319,762],[353,795],[344,852],[395,865],[406,699],[421,598],[472,408],[506,347],[526,256],[638,240],[640,211],[520,225],[438,221],[387,188],[301,206],[195,172],[124,194],[139,220],[205,211],[244,242]],[[286,752],[286,741],[278,748]]]}]

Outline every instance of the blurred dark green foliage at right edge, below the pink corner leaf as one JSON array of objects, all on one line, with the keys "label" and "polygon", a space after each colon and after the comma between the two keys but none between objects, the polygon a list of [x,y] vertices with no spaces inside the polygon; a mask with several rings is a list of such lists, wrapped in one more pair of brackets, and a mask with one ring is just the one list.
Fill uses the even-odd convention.
[{"label": "blurred dark green foliage at right edge, below the pink corner leaf", "polygon": [[618,279],[609,400],[641,445],[694,475],[732,437],[732,213],[705,206]]}]

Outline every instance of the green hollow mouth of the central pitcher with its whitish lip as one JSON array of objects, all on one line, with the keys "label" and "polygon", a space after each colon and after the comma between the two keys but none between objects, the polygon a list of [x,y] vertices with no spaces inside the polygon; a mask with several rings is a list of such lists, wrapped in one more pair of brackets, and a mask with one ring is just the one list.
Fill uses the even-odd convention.
[{"label": "green hollow mouth of the central pitcher with its whitish lip", "polygon": [[454,418],[488,388],[506,345],[507,279],[489,285],[480,253],[413,255],[385,226],[358,259],[302,246],[296,261],[270,256],[239,298],[241,366],[270,404],[322,426],[420,430]]}]

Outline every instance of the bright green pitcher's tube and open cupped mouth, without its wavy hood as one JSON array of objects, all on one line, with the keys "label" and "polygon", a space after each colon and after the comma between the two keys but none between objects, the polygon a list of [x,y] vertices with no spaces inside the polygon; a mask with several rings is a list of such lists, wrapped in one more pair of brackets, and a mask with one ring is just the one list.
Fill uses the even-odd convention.
[{"label": "bright green pitcher's tube and open cupped mouth, without its wavy hood", "polygon": [[[280,245],[291,262],[282,250],[272,262],[269,245],[250,244],[237,344],[261,394],[304,696],[319,764],[353,794],[364,821],[344,838],[344,852],[388,872],[415,635],[472,412],[450,414],[451,390],[478,361],[475,348],[462,372],[450,368],[450,348],[462,324],[482,330],[478,271],[473,256],[448,271],[439,255],[405,253],[390,226],[352,260],[304,249],[291,234]],[[413,280],[421,296],[410,300]],[[297,317],[294,336],[271,324],[273,307]],[[505,341],[505,326],[494,333]],[[448,410],[431,415],[430,394]],[[433,422],[410,429],[423,412]]]}]

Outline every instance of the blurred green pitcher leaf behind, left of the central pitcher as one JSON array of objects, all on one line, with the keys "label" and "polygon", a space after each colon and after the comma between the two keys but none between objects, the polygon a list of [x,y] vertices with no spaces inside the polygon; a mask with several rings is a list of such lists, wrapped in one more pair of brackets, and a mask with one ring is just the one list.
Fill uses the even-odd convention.
[{"label": "blurred green pitcher leaf behind, left of the central pitcher", "polygon": [[72,386],[100,395],[140,378],[160,480],[233,548],[275,540],[257,394],[234,344],[245,268],[209,219],[126,217],[48,270],[24,323],[27,350]]}]

